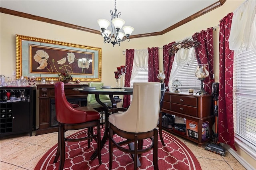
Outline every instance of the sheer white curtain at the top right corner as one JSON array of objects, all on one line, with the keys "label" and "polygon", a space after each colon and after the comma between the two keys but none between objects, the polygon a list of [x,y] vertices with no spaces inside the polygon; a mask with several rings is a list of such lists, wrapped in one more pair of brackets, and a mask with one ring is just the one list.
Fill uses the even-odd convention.
[{"label": "sheer white curtain at the top right corner", "polygon": [[256,54],[256,0],[247,0],[233,12],[230,37],[231,50],[252,47]]}]

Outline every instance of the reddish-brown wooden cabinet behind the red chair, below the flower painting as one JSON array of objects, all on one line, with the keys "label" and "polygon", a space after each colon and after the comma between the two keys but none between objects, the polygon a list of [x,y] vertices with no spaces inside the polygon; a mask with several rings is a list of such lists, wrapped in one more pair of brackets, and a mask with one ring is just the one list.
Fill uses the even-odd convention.
[{"label": "reddish-brown wooden cabinet behind the red chair, below the flower painting", "polygon": [[[55,112],[55,97],[54,97],[54,85],[40,84],[36,85],[39,90],[39,128],[36,130],[36,135],[45,134],[51,132],[57,132],[58,126],[53,125],[54,116],[52,112]],[[86,106],[87,94],[74,91],[73,88],[79,88],[81,86],[88,86],[88,84],[64,84],[64,91],[68,101]],[[83,102],[81,102],[83,101]]]}]

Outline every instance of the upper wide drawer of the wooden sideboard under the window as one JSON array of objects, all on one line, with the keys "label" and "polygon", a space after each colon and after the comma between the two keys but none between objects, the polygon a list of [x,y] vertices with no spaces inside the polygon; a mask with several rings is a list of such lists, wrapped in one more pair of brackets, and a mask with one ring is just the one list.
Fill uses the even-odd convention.
[{"label": "upper wide drawer of the wooden sideboard under the window", "polygon": [[196,97],[190,97],[190,96],[178,96],[178,95],[172,95],[171,96],[171,103],[177,103],[181,105],[188,105],[197,107],[197,98]]}]

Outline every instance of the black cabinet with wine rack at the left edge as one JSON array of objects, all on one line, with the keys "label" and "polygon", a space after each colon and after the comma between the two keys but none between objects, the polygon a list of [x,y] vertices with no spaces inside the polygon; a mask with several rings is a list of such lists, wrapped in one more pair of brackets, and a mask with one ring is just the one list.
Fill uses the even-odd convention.
[{"label": "black cabinet with wine rack at the left edge", "polygon": [[[10,99],[6,100],[6,92],[11,93]],[[25,98],[20,98],[21,92]],[[36,87],[1,87],[0,103],[0,132],[2,136],[29,132],[35,129],[36,120]]]}]

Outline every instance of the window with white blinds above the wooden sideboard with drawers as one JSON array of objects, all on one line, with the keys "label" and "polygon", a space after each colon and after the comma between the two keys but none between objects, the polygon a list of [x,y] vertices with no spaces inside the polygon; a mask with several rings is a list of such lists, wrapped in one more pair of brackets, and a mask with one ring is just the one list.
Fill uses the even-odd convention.
[{"label": "window with white blinds above the wooden sideboard with drawers", "polygon": [[[182,92],[188,92],[188,89],[194,89],[194,92],[197,92],[200,90],[201,81],[195,77],[197,65],[198,65],[198,63],[197,63],[196,57],[195,57],[192,65],[182,66],[180,68],[180,71],[174,77],[173,81],[178,79],[182,83],[182,86],[180,86]],[[176,62],[175,62],[175,67],[177,67]],[[169,86],[172,86],[172,85],[169,85]]]}]

